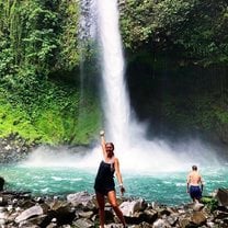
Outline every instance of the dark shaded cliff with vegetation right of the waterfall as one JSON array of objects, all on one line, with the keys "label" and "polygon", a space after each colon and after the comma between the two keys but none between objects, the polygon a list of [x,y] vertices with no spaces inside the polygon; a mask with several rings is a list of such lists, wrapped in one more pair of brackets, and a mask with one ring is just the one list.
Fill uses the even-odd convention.
[{"label": "dark shaded cliff with vegetation right of the waterfall", "polygon": [[227,1],[126,0],[121,9],[139,116],[228,142]]}]

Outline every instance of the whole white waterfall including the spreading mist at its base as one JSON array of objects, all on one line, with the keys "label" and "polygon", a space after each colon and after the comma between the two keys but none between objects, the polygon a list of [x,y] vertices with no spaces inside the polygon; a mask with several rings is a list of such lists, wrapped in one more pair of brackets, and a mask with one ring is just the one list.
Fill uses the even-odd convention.
[{"label": "whole white waterfall including the spreading mist at its base", "polygon": [[[105,115],[106,140],[115,145],[115,155],[122,169],[134,172],[168,172],[189,170],[194,164],[208,166],[218,163],[210,146],[200,140],[173,142],[169,146],[163,140],[147,140],[146,127],[135,121],[124,80],[124,57],[118,30],[117,0],[84,0],[92,10],[90,25],[96,26],[101,48],[102,81],[101,99]],[[91,29],[91,27],[90,27]],[[139,72],[140,73],[140,72]],[[99,140],[99,133],[98,133]],[[48,150],[48,149],[47,149]],[[87,156],[60,152],[45,152],[37,149],[29,159],[29,166],[66,166],[77,168],[96,168],[102,158],[100,146]],[[47,155],[48,153],[48,155]],[[44,159],[45,157],[45,159]],[[208,159],[209,158],[209,159]]]}]

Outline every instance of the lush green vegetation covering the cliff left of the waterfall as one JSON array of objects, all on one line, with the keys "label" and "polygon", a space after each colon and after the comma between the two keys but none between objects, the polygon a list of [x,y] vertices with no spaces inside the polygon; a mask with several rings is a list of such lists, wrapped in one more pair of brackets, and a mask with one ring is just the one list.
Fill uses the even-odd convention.
[{"label": "lush green vegetation covering the cliff left of the waterfall", "polygon": [[[93,90],[80,102],[75,0],[0,0],[0,137],[89,144],[100,124]],[[91,89],[91,88],[90,88]]]}]

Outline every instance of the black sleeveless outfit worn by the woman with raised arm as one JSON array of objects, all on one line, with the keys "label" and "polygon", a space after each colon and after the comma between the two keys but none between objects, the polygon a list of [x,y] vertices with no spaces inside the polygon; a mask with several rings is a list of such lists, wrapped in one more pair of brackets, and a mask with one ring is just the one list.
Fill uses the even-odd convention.
[{"label": "black sleeveless outfit worn by the woman with raised arm", "polygon": [[110,191],[115,191],[114,172],[114,163],[106,163],[104,161],[101,161],[95,178],[95,192],[102,195],[107,195]]}]

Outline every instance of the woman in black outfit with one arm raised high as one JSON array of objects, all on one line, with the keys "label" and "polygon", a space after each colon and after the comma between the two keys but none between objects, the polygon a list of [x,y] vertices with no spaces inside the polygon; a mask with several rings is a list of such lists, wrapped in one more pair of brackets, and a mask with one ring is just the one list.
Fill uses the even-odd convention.
[{"label": "woman in black outfit with one arm raised high", "polygon": [[104,197],[107,196],[111,206],[113,207],[115,214],[126,227],[126,223],[123,216],[122,210],[118,208],[116,192],[115,192],[115,183],[114,183],[114,173],[116,174],[117,181],[119,183],[122,195],[125,192],[123,186],[122,174],[119,170],[118,159],[114,156],[114,145],[113,142],[105,142],[104,132],[100,132],[101,136],[101,146],[103,151],[104,160],[101,161],[99,171],[95,178],[95,195],[99,204],[99,216],[100,216],[100,227],[104,228]]}]

